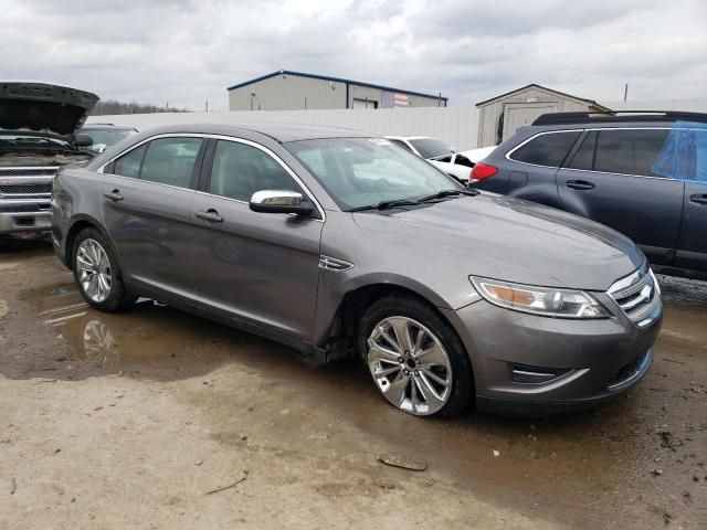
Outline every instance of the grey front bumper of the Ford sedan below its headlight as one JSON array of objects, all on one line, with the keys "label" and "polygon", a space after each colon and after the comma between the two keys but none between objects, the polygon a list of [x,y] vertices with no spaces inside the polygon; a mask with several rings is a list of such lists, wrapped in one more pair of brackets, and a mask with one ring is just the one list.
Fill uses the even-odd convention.
[{"label": "grey front bumper of the Ford sedan below its headlight", "polygon": [[[609,300],[606,307],[612,307]],[[640,329],[619,307],[608,319],[561,319],[513,311],[479,300],[443,310],[474,370],[477,406],[518,415],[590,407],[636,384],[648,371],[662,322]],[[518,382],[517,367],[558,375]],[[544,370],[548,369],[548,370]]]}]

